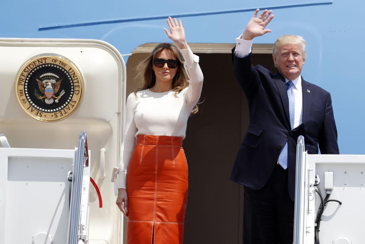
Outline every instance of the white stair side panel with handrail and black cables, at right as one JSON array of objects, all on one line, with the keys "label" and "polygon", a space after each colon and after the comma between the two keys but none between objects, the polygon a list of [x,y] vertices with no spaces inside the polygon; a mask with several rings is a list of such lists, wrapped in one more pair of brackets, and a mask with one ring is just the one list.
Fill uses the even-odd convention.
[{"label": "white stair side panel with handrail and black cables, at right", "polygon": [[364,243],[365,155],[296,156],[294,244]]}]

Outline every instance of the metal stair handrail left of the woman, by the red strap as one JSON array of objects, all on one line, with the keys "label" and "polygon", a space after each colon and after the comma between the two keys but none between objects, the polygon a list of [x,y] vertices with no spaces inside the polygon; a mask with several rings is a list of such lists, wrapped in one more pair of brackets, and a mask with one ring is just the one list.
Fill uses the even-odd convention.
[{"label": "metal stair handrail left of the woman, by the red strap", "polygon": [[[75,153],[73,186],[70,203],[70,224],[68,234],[68,244],[78,243],[78,232],[80,222],[81,189],[84,164],[88,162],[86,133],[81,132],[78,139],[78,149]],[[86,165],[88,166],[88,165]]]}]

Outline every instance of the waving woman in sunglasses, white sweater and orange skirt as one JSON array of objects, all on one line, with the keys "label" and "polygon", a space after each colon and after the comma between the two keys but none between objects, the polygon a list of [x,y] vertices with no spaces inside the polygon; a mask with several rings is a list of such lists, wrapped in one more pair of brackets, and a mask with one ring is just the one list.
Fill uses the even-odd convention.
[{"label": "waving woman in sunglasses, white sweater and orange skirt", "polygon": [[170,31],[164,30],[180,50],[158,45],[138,65],[143,88],[127,99],[116,200],[128,217],[127,244],[183,243],[188,166],[182,141],[188,117],[197,112],[203,74],[181,20],[167,23]]}]

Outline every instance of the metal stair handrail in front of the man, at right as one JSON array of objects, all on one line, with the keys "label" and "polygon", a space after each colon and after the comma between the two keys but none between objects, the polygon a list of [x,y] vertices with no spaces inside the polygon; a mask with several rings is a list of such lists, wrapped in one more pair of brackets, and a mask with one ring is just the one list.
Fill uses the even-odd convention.
[{"label": "metal stair handrail in front of the man, at right", "polygon": [[300,223],[303,222],[300,213],[300,204],[302,202],[301,189],[303,188],[303,153],[304,153],[304,136],[299,136],[296,150],[296,168],[295,168],[295,208],[294,208],[294,244],[300,244]]}]

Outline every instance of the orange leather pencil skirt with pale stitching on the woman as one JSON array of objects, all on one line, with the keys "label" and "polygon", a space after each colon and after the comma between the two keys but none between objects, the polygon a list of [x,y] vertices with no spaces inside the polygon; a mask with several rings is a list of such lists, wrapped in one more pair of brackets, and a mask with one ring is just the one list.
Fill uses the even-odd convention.
[{"label": "orange leather pencil skirt with pale stitching on the woman", "polygon": [[188,165],[178,136],[138,135],[128,166],[127,244],[183,244]]}]

